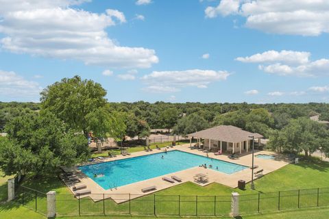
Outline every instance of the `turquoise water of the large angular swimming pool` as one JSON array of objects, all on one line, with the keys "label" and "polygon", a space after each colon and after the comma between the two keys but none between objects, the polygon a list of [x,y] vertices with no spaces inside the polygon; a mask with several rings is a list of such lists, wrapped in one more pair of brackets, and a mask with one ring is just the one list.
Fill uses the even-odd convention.
[{"label": "turquoise water of the large angular swimming pool", "polygon": [[[175,150],[168,151],[167,153],[156,153],[112,162],[80,166],[79,169],[90,177],[90,179],[101,185],[103,189],[108,190],[145,179],[167,175],[171,172],[186,170],[202,164],[207,164],[207,166],[211,164],[213,170],[217,170],[216,167],[218,166],[218,171],[226,174],[232,174],[247,168],[247,166]],[[95,174],[103,176],[94,177]]]}]

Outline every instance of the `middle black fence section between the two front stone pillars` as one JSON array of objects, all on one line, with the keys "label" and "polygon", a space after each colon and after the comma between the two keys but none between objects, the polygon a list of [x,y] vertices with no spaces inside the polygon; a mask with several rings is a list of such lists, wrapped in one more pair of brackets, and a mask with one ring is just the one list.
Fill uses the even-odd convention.
[{"label": "middle black fence section between the two front stone pillars", "polygon": [[[224,216],[230,214],[231,196],[180,196],[141,194],[92,194],[91,198],[56,195],[59,216],[156,215]],[[111,196],[112,198],[110,198]]]}]

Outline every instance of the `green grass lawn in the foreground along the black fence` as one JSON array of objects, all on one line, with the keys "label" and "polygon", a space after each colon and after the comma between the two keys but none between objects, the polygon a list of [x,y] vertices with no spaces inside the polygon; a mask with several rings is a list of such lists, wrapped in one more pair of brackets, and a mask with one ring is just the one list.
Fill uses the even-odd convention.
[{"label": "green grass lawn in the foreground along the black fence", "polygon": [[[167,143],[168,144],[168,143]],[[160,145],[159,145],[160,146]],[[78,202],[69,190],[58,180],[57,177],[48,177],[47,179],[29,179],[25,178],[23,185],[29,188],[35,188],[41,192],[48,192],[49,190],[56,190],[58,196],[56,197],[58,213],[61,214],[60,218],[74,218],[67,217],[66,215],[77,216],[78,214]],[[329,186],[329,163],[328,162],[300,162],[299,165],[289,164],[280,170],[266,175],[255,181],[256,191],[249,189],[249,184],[246,190],[232,189],[218,183],[212,183],[205,187],[195,185],[194,183],[187,182],[167,190],[156,192],[156,212],[157,214],[177,214],[178,213],[178,195],[180,195],[180,214],[188,215],[195,214],[195,196],[198,195],[198,214],[199,215],[211,215],[216,211],[217,214],[228,214],[230,211],[230,194],[231,192],[239,192],[241,194],[241,212],[243,214],[254,214],[257,208],[258,192],[263,195],[264,192],[273,192],[270,196],[265,197],[261,203],[260,209],[262,213],[263,209],[271,210],[272,214],[265,214],[253,216],[243,216],[243,218],[325,218],[324,215],[329,214],[329,209],[322,208],[302,208],[296,211],[280,212],[277,211],[278,204],[278,191],[279,190],[297,190],[308,189],[318,187]],[[1,186],[1,185],[0,185]],[[0,187],[1,188],[1,187]],[[329,190],[326,190],[326,194],[321,194],[320,206],[329,206]],[[1,190],[1,193],[5,190]],[[314,191],[313,191],[314,192]],[[214,198],[217,198],[216,208],[214,205]],[[203,196],[203,197],[202,197]],[[281,194],[281,209],[297,209],[297,196],[295,193],[287,196]],[[30,198],[30,199],[29,199]],[[25,195],[25,202],[27,206],[34,207],[34,196],[31,197]],[[304,194],[301,196],[301,207],[314,206],[316,197],[314,194]],[[40,212],[45,211],[45,197],[38,196],[38,209]],[[113,214],[118,212],[129,212],[129,203],[123,203],[117,205],[114,201],[106,200],[104,203],[94,203],[89,198],[83,198],[80,201],[82,216],[80,218],[87,217],[86,214],[92,212],[93,214],[103,214],[103,205],[106,207],[106,214]],[[146,213],[153,214],[154,212],[154,194],[137,198],[130,203],[132,213]],[[10,211],[22,212],[26,210],[25,207],[18,207],[13,205],[1,205],[0,206],[0,218],[3,218],[6,214],[10,214]],[[29,210],[30,211],[30,210]],[[14,212],[12,214],[14,214]],[[31,211],[29,214],[32,214]],[[34,212],[33,212],[34,213]],[[19,213],[16,213],[19,214]],[[35,213],[34,213],[35,214]],[[122,218],[118,216],[117,218]],[[6,218],[6,217],[4,217]],[[33,218],[33,217],[32,217]],[[37,218],[37,217],[35,217]],[[98,218],[93,216],[93,218]],[[99,218],[104,218],[103,216]],[[110,218],[116,218],[111,216]],[[139,218],[135,217],[134,218]],[[141,217],[143,218],[143,217]],[[170,218],[175,218],[172,216]]]}]

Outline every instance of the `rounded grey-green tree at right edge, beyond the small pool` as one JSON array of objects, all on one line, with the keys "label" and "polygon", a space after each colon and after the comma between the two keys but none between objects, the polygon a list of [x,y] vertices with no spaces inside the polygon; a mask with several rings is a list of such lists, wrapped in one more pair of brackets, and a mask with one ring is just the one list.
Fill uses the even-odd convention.
[{"label": "rounded grey-green tree at right edge, beyond the small pool", "polygon": [[291,120],[281,131],[271,133],[269,146],[278,148],[280,144],[285,151],[295,153],[304,151],[305,157],[317,150],[326,153],[329,151],[329,132],[321,123],[309,118],[297,118]]}]

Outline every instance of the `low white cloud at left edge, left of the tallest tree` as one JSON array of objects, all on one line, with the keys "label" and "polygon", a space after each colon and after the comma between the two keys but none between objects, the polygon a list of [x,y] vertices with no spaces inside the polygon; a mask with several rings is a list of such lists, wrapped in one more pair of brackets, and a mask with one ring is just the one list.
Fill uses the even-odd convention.
[{"label": "low white cloud at left edge, left of the tallest tree", "polygon": [[38,96],[41,90],[36,81],[28,81],[12,71],[0,70],[0,97]]}]

